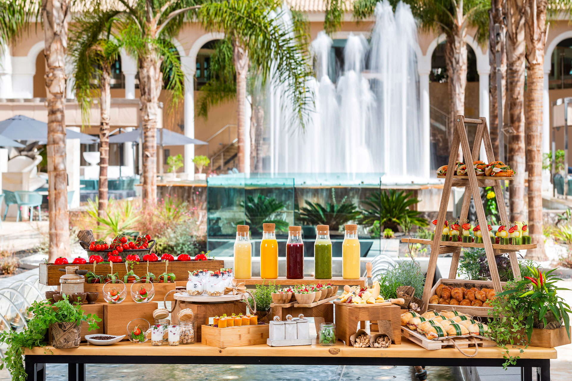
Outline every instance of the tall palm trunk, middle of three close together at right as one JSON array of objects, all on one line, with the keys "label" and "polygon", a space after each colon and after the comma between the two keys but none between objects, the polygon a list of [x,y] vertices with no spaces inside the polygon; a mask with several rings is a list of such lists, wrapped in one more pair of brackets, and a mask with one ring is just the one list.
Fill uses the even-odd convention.
[{"label": "tall palm trunk, middle of three close together at right", "polygon": [[[507,2],[507,81],[509,91],[509,165],[514,180],[509,185],[510,219],[526,220],[525,212],[525,18],[523,0]],[[541,102],[542,104],[542,102]],[[542,121],[541,121],[542,124]],[[499,158],[502,160],[502,158]]]}]

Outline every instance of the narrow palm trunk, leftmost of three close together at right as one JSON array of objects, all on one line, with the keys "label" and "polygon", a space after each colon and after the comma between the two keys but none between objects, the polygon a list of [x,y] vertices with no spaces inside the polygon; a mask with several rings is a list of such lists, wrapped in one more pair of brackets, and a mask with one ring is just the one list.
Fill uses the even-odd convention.
[{"label": "narrow palm trunk, leftmost of three close together at right", "polygon": [[[496,86],[496,37],[495,37],[495,24],[501,26],[501,34],[504,36],[506,27],[503,22],[505,17],[505,9],[503,9],[504,1],[492,0],[491,9],[488,11],[488,63],[491,66],[491,73],[489,74],[490,86],[488,87],[488,102],[489,102],[489,118],[488,126],[490,130],[490,137],[492,143],[492,153],[495,158],[499,157],[499,136],[498,136],[498,89]],[[506,107],[506,48],[505,44],[501,44],[501,100],[503,110]],[[503,115],[504,116],[504,115]],[[500,160],[500,158],[498,159]]]}]

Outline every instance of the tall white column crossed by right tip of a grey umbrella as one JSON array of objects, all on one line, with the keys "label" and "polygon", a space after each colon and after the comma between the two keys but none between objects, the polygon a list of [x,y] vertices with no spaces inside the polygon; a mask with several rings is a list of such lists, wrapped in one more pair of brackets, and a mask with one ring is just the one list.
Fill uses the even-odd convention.
[{"label": "tall white column crossed by right tip of a grey umbrella", "polygon": [[[194,139],[194,73],[196,58],[181,57],[181,66],[185,73],[185,102],[184,102],[184,125],[185,137]],[[184,172],[189,180],[194,179],[194,144],[185,145]]]}]

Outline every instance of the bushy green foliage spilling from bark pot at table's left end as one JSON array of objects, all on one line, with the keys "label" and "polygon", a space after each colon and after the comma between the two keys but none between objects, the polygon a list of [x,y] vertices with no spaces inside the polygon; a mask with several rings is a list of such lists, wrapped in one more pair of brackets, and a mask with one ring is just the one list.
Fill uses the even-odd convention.
[{"label": "bushy green foliage spilling from bark pot at table's left end", "polygon": [[[55,307],[55,308],[52,308]],[[15,332],[8,330],[0,334],[0,343],[7,344],[8,348],[4,352],[5,357],[2,359],[0,369],[4,366],[10,372],[14,381],[25,381],[26,370],[23,363],[24,348],[45,347],[47,345],[46,337],[49,328],[54,325],[63,327],[63,324],[72,326],[77,331],[77,336],[71,343],[55,342],[52,340],[52,346],[55,348],[77,347],[80,343],[80,330],[82,322],[89,324],[89,331],[97,330],[98,322],[101,319],[97,315],[84,315],[79,304],[72,304],[64,295],[63,300],[52,305],[46,300],[32,303],[28,312],[33,314],[32,318],[26,322],[23,331]],[[67,324],[66,324],[67,323]],[[69,342],[69,340],[67,340]],[[76,344],[77,343],[77,344]],[[71,344],[71,346],[69,346]]]}]

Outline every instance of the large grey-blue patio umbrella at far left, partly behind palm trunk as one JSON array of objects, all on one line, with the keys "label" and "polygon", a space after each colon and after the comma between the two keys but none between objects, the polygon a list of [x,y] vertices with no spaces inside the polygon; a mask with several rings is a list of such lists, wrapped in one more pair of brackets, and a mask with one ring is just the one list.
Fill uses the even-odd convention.
[{"label": "large grey-blue patio umbrella at far left, partly behind palm trunk", "polygon": [[[24,115],[15,115],[0,122],[0,135],[13,140],[47,142],[47,123],[29,118]],[[93,144],[97,142],[92,135],[77,133],[66,129],[66,139],[80,139],[81,143]]]}]

